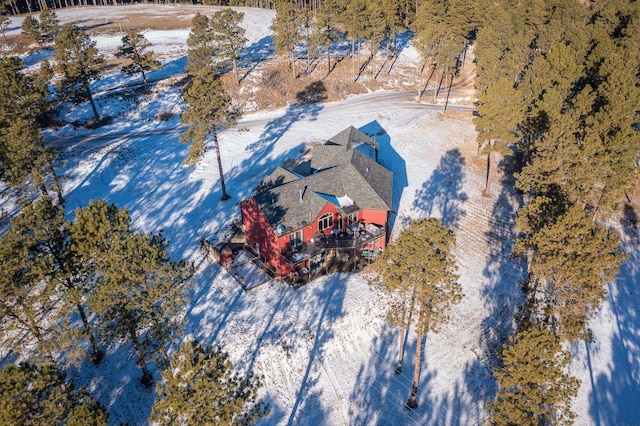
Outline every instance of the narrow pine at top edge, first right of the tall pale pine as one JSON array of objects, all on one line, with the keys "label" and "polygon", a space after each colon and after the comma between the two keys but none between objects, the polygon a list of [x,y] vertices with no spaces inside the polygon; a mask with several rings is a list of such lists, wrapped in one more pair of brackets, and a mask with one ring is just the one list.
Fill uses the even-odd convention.
[{"label": "narrow pine at top edge, first right of the tall pale pine", "polygon": [[273,31],[273,41],[276,53],[285,55],[289,59],[289,68],[293,78],[296,78],[295,49],[300,41],[300,14],[293,3],[279,0],[276,3],[276,16],[269,27]]}]

